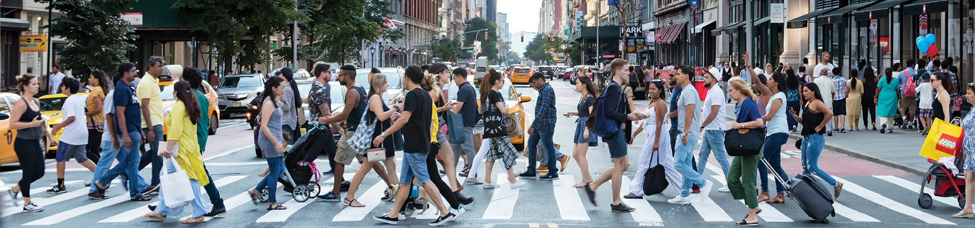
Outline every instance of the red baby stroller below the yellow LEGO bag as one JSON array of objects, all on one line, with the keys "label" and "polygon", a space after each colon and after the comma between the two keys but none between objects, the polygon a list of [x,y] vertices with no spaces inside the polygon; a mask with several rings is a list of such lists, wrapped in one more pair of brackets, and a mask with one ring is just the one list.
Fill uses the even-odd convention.
[{"label": "red baby stroller below the yellow LEGO bag", "polygon": [[[962,135],[963,137],[963,135]],[[938,197],[958,197],[958,207],[965,208],[965,177],[964,173],[954,174],[948,169],[944,164],[938,163],[937,161],[928,159],[928,163],[931,163],[931,168],[927,169],[924,177],[920,182],[920,195],[917,199],[917,206],[921,209],[930,209],[933,200],[930,194],[924,193],[924,185],[931,182],[931,177],[934,176],[934,195]],[[960,168],[964,165],[964,153],[961,152],[961,146],[957,146],[955,151],[955,167]]]}]

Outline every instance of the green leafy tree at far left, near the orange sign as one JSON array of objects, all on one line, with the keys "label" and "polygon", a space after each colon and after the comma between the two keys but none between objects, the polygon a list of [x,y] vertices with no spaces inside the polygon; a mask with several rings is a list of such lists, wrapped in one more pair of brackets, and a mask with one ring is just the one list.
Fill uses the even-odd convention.
[{"label": "green leafy tree at far left, near the orange sign", "polygon": [[136,49],[135,45],[129,43],[137,38],[133,34],[136,29],[119,18],[119,13],[131,9],[128,7],[130,2],[52,1],[50,7],[64,16],[43,27],[50,28],[52,34],[63,37],[67,42],[59,53],[64,57],[59,62],[61,70],[70,70],[82,81],[95,69],[114,74],[118,63],[128,60],[126,54]]}]

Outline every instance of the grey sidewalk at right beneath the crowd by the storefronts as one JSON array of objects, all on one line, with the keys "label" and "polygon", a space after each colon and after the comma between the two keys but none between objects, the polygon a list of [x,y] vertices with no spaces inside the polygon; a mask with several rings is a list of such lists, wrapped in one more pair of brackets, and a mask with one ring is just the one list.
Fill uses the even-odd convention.
[{"label": "grey sidewalk at right beneath the crowd by the storefronts", "polygon": [[[728,120],[734,120],[734,104],[729,103],[725,106]],[[863,119],[860,119],[863,124]],[[917,130],[894,129],[893,133],[880,133],[878,131],[849,131],[846,133],[834,132],[833,136],[826,137],[825,149],[837,151],[851,157],[864,159],[879,163],[895,169],[910,171],[916,174],[924,174],[931,165],[927,159],[917,155],[921,144],[924,143],[924,136],[916,133]],[[799,132],[789,135],[793,139],[801,139]],[[830,161],[820,161],[829,163]]]}]

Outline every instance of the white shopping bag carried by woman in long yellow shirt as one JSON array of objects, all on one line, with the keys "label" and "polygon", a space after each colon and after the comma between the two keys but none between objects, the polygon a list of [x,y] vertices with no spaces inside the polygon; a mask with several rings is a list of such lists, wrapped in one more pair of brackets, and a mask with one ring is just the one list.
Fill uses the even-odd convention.
[{"label": "white shopping bag carried by woman in long yellow shirt", "polygon": [[[164,161],[164,164],[167,167],[163,171],[160,171],[159,183],[163,191],[163,201],[166,202],[166,207],[178,209],[188,206],[189,202],[193,200],[193,186],[190,185],[189,176],[186,175],[186,171],[179,168],[179,164],[176,164],[176,159],[168,158]],[[167,173],[171,166],[176,171]],[[199,186],[197,187],[199,188]]]}]

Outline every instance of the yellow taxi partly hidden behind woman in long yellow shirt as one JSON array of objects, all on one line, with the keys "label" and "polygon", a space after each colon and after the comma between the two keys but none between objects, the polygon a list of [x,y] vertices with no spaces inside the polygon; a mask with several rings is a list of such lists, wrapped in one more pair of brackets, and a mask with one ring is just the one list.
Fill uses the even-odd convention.
[{"label": "yellow taxi partly hidden behind woman in long yellow shirt", "polygon": [[[177,66],[178,69],[176,69]],[[159,89],[162,90],[162,92],[159,93],[159,96],[161,96],[163,99],[163,121],[165,122],[166,118],[169,117],[170,110],[173,110],[173,104],[176,104],[176,98],[173,97],[173,84],[175,84],[176,79],[181,76],[182,66],[166,65],[163,69],[163,75],[159,76]],[[216,93],[214,92],[214,88],[211,87],[210,83],[207,83],[207,81],[203,82],[203,88],[200,90],[200,92],[203,93],[204,96],[207,96],[207,100],[210,100],[209,134],[215,134],[220,123],[220,109],[216,107]],[[163,125],[163,134],[166,133],[168,133],[166,125]]]}]

